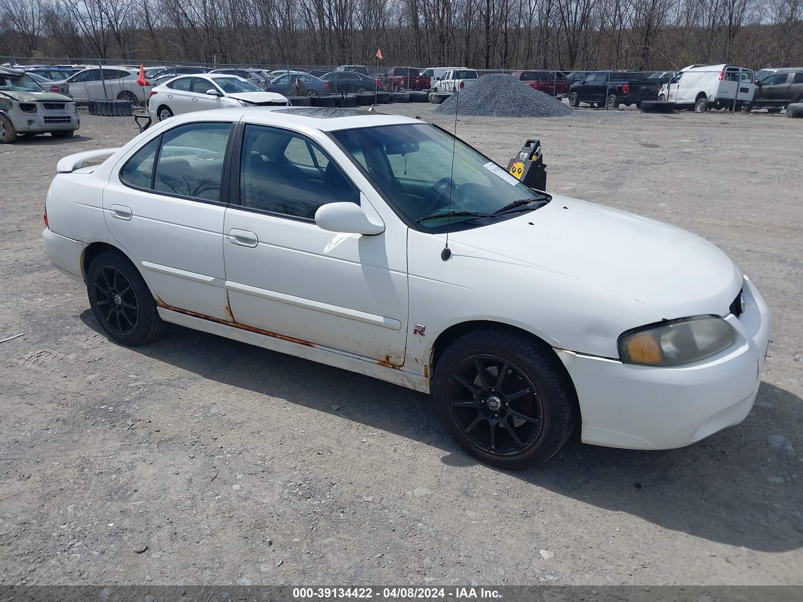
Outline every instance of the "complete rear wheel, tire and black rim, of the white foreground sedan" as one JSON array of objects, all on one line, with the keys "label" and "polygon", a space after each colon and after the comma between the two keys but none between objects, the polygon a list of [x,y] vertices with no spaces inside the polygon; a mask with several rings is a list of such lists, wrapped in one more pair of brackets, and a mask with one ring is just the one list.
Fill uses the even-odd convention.
[{"label": "complete rear wheel, tire and black rim, of the white foreground sedan", "polygon": [[165,330],[145,279],[123,254],[104,251],[92,259],[87,293],[95,319],[118,343],[145,344]]}]

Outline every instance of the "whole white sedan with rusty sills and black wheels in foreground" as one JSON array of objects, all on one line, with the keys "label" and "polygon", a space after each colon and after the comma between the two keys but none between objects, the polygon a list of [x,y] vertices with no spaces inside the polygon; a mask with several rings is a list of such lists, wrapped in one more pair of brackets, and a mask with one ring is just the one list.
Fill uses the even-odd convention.
[{"label": "whole white sedan with rusty sills and black wheels in foreground", "polygon": [[772,318],[722,251],[528,189],[421,120],[194,112],[57,172],[45,251],[110,338],[172,322],[432,393],[493,466],[536,466],[575,428],[689,445],[756,397]]}]

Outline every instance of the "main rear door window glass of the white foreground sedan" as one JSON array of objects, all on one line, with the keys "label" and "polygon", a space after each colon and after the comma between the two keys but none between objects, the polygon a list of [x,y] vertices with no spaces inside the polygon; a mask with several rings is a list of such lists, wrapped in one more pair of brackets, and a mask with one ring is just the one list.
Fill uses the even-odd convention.
[{"label": "main rear door window glass of the white foreground sedan", "polygon": [[220,200],[223,158],[231,124],[187,124],[162,135],[153,189]]}]

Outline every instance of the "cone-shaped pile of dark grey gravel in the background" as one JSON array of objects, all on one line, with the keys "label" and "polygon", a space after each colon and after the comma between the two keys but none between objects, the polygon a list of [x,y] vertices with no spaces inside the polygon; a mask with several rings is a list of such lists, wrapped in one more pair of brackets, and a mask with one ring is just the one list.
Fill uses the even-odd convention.
[{"label": "cone-shaped pile of dark grey gravel in the background", "polygon": [[493,73],[483,75],[471,85],[452,94],[434,110],[438,115],[454,115],[455,104],[459,115],[484,117],[564,117],[572,109],[544,92],[538,92],[512,75]]}]

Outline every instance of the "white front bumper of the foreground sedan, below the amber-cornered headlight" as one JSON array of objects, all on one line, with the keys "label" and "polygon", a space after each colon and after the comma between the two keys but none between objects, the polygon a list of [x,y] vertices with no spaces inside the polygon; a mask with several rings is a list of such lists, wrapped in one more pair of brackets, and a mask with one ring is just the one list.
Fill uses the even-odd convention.
[{"label": "white front bumper of the foreground sedan, below the amber-cornered headlight", "polygon": [[690,445],[747,417],[764,368],[772,315],[744,277],[745,310],[725,319],[736,343],[715,356],[674,368],[559,351],[583,420],[582,441],[628,449]]}]

